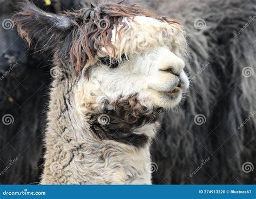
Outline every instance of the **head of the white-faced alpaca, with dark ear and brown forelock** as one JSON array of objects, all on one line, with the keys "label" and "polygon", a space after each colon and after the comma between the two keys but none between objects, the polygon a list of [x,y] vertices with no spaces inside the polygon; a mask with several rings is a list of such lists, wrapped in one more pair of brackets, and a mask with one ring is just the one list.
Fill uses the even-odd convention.
[{"label": "head of the white-faced alpaca, with dark ear and brown forelock", "polygon": [[19,33],[54,52],[55,69],[79,76],[78,104],[86,109],[134,95],[148,109],[172,108],[188,87],[185,34],[175,20],[138,5],[103,4],[63,15],[30,3],[21,8],[14,17]]}]

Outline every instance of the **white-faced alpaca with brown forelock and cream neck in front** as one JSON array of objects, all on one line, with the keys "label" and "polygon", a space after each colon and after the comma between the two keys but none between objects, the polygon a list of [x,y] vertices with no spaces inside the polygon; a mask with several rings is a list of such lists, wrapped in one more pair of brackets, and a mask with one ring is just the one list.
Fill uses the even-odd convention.
[{"label": "white-faced alpaca with brown forelock and cream neck in front", "polygon": [[54,52],[41,183],[151,184],[156,112],[189,84],[183,27],[137,4],[53,15],[23,3],[14,21]]}]

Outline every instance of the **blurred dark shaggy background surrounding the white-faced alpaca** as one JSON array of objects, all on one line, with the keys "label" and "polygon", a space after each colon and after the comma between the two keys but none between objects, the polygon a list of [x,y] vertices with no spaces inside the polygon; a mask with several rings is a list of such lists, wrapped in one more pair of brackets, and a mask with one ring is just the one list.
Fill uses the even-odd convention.
[{"label": "blurred dark shaggy background surrounding the white-faced alpaca", "polygon": [[[37,184],[52,54],[29,49],[0,0],[0,183]],[[87,8],[86,0],[35,0],[53,13]],[[119,2],[119,1],[101,1]],[[178,19],[187,32],[191,88],[161,113],[152,144],[154,184],[256,182],[256,1],[124,1]]]}]

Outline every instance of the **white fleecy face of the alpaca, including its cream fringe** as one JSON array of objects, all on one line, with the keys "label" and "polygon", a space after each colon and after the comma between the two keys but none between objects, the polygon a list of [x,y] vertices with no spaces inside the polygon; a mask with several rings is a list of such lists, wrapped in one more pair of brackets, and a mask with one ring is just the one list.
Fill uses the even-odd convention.
[{"label": "white fleecy face of the alpaca, including its cream fringe", "polygon": [[128,60],[113,69],[97,62],[89,82],[79,81],[79,96],[86,95],[86,102],[90,98],[93,104],[100,103],[100,98],[112,102],[119,96],[139,94],[140,103],[149,108],[176,106],[189,84],[183,70],[186,41],[181,26],[149,17],[124,21],[129,27],[120,31],[120,38],[115,33],[121,26],[115,28],[112,43],[117,56],[125,54]]}]

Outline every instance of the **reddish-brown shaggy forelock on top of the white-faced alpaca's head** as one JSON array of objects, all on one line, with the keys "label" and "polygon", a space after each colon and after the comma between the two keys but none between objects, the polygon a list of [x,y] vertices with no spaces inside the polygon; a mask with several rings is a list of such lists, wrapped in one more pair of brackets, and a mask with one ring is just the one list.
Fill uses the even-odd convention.
[{"label": "reddish-brown shaggy forelock on top of the white-faced alpaca's head", "polygon": [[71,65],[75,66],[77,71],[81,70],[87,62],[95,61],[97,54],[109,55],[108,49],[110,48],[111,54],[115,58],[116,48],[111,42],[112,30],[114,26],[121,25],[120,29],[116,31],[116,35],[120,38],[120,32],[129,27],[124,22],[124,17],[132,19],[135,16],[146,16],[169,24],[179,24],[176,20],[168,17],[157,17],[138,4],[102,4],[78,12],[66,12],[66,15],[73,16],[77,22],[77,27],[72,33],[73,42],[70,51]]}]

